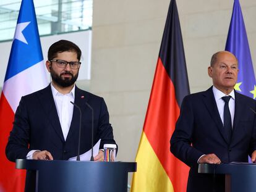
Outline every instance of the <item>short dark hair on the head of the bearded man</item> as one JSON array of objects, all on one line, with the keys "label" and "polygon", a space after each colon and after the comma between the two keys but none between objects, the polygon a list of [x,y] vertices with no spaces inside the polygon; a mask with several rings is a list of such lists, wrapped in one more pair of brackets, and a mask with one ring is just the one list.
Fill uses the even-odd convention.
[{"label": "short dark hair on the head of the bearded man", "polygon": [[59,52],[64,51],[74,51],[77,53],[77,59],[80,61],[81,59],[81,50],[79,46],[77,46],[75,43],[67,40],[59,40],[55,43],[53,43],[48,50],[48,61],[51,61],[54,59],[54,57],[57,56]]}]

